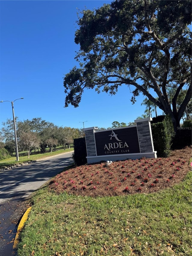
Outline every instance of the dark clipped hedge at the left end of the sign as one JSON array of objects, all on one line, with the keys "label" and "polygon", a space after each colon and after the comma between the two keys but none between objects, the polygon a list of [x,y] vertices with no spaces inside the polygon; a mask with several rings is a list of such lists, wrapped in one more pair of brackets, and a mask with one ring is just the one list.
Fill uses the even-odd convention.
[{"label": "dark clipped hedge at the left end of the sign", "polygon": [[73,159],[76,165],[83,165],[87,163],[87,150],[85,137],[74,139]]}]

